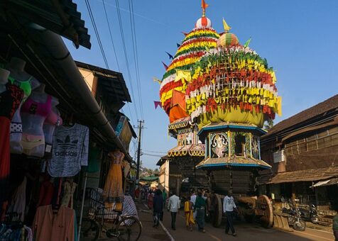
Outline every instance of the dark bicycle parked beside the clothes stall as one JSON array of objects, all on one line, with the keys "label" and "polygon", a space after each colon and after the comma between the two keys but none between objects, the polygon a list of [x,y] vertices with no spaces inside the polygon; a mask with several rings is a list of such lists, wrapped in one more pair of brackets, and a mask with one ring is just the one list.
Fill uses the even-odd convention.
[{"label": "dark bicycle parked beside the clothes stall", "polygon": [[[104,203],[91,198],[91,202],[97,202],[92,206],[89,215],[82,219],[81,240],[97,240],[100,233],[105,232],[107,237],[116,237],[120,241],[136,241],[141,236],[142,224],[133,215],[121,215],[121,211],[108,212],[109,208]],[[107,218],[108,217],[108,218]],[[106,224],[111,224],[108,227]]]}]

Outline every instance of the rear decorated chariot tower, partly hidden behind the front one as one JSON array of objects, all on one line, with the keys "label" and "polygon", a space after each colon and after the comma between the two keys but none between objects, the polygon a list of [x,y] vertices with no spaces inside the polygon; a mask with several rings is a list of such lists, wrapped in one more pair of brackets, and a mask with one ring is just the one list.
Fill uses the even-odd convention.
[{"label": "rear decorated chariot tower, partly hidden behind the front one", "polygon": [[168,151],[170,159],[170,189],[185,196],[190,189],[208,186],[207,176],[196,165],[205,157],[205,145],[197,138],[198,127],[186,110],[186,90],[191,82],[190,72],[208,50],[217,47],[219,34],[212,23],[202,16],[190,33],[178,45],[170,65],[165,65],[165,74],[160,81],[160,103],[168,114],[170,136],[178,140],[176,147]]}]

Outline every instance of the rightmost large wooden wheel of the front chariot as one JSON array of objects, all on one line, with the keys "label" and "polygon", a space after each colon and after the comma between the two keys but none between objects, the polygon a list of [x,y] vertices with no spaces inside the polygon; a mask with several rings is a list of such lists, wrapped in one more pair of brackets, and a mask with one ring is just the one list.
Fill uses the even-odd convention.
[{"label": "rightmost large wooden wheel of the front chariot", "polygon": [[271,228],[273,225],[273,207],[266,195],[258,196],[256,203],[256,215],[261,216],[261,225]]}]

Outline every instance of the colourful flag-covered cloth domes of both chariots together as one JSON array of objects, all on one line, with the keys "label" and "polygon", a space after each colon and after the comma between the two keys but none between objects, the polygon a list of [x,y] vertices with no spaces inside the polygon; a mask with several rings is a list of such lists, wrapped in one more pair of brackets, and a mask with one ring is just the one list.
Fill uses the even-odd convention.
[{"label": "colourful flag-covered cloth domes of both chariots together", "polygon": [[265,58],[245,45],[223,19],[219,36],[203,15],[185,38],[160,82],[160,103],[170,123],[185,116],[199,128],[215,122],[250,123],[281,115],[276,74]]}]

